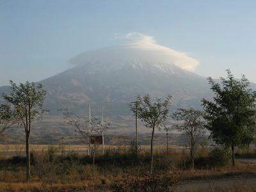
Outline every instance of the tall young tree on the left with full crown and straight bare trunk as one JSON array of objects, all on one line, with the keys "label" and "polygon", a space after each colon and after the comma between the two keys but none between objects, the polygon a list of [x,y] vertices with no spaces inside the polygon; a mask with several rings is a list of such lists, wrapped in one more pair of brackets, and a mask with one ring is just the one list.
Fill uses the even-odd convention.
[{"label": "tall young tree on the left with full crown and straight bare trunk", "polygon": [[15,113],[17,122],[24,126],[26,134],[26,179],[30,177],[30,153],[29,153],[29,136],[31,132],[31,122],[42,117],[45,112],[42,105],[45,100],[45,90],[42,84],[20,83],[19,86],[10,81],[11,92],[9,95],[3,94],[4,99],[8,102],[9,109]]}]

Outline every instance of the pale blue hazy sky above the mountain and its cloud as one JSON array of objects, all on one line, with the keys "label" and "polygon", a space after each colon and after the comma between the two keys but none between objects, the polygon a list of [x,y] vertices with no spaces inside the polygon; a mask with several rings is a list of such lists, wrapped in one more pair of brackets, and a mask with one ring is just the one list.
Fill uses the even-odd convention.
[{"label": "pale blue hazy sky above the mountain and its cloud", "polygon": [[132,32],[195,58],[197,74],[256,82],[256,1],[0,0],[0,85],[58,74]]}]

